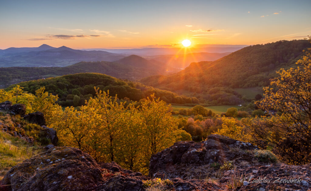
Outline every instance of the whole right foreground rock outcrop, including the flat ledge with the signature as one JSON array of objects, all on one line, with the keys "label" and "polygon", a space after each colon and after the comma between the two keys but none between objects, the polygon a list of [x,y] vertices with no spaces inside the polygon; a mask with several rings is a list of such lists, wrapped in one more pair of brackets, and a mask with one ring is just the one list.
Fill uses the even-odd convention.
[{"label": "whole right foreground rock outcrop, including the flat ledge with the signature", "polygon": [[[149,175],[178,181],[176,190],[311,189],[311,164],[260,162],[253,154],[256,150],[251,143],[216,134],[198,143],[176,142],[151,156]],[[232,167],[220,168],[226,161]]]}]

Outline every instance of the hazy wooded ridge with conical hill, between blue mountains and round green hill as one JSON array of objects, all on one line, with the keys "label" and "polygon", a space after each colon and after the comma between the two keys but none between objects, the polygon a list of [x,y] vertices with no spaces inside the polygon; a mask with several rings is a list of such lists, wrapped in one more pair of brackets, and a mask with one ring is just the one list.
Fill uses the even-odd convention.
[{"label": "hazy wooded ridge with conical hill, between blue mountains and round green hill", "polygon": [[[138,56],[137,56],[138,57]],[[143,59],[143,58],[142,58]],[[129,64],[115,63],[115,62],[79,62],[67,67],[7,67],[0,68],[0,85],[7,86],[7,84],[18,83],[22,81],[36,80],[46,77],[55,77],[66,74],[75,74],[81,72],[97,72],[107,74],[109,76],[137,80],[143,77],[161,74],[165,72],[164,69],[160,71],[154,67],[140,68]]]}]

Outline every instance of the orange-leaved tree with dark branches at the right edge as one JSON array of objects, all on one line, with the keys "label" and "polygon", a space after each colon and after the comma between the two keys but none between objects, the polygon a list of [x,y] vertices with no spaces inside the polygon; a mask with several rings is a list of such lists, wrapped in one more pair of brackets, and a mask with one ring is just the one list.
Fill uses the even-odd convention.
[{"label": "orange-leaved tree with dark branches at the right edge", "polygon": [[296,64],[297,68],[277,72],[257,104],[272,115],[269,123],[263,122],[271,134],[262,138],[284,160],[304,164],[311,162],[311,49]]}]

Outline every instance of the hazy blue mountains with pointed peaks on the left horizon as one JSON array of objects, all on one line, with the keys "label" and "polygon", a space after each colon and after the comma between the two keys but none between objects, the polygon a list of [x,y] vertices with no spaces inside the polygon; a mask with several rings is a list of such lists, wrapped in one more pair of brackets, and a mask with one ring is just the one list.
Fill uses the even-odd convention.
[{"label": "hazy blue mountains with pointed peaks on the left horizon", "polygon": [[34,48],[8,48],[0,51],[0,67],[63,67],[81,61],[116,61],[126,55],[106,51],[85,51],[66,46],[42,44]]}]

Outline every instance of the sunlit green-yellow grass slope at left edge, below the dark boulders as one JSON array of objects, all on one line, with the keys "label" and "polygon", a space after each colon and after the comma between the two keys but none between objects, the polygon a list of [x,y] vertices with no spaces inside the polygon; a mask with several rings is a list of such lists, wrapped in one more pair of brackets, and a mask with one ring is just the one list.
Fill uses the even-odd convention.
[{"label": "sunlit green-yellow grass slope at left edge, below the dark boulders", "polygon": [[21,163],[39,152],[37,146],[13,137],[8,133],[0,132],[0,180],[11,167]]}]

